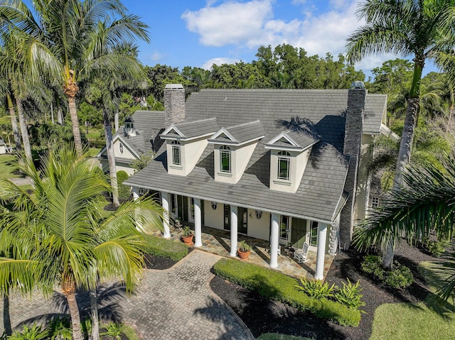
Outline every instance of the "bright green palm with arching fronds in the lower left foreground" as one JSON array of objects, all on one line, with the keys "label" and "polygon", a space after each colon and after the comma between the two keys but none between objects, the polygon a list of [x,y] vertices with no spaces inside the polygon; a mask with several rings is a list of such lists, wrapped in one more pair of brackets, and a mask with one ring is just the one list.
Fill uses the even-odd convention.
[{"label": "bright green palm with arching fronds in the lower left foreground", "polygon": [[102,194],[109,185],[99,168],[68,147],[49,151],[42,163],[40,170],[30,160],[22,167],[33,182],[31,193],[1,180],[0,251],[21,252],[0,258],[0,287],[23,292],[39,287],[49,295],[59,285],[73,337],[82,340],[77,288],[122,278],[131,291],[144,268],[142,232],[160,225],[161,209],[139,199],[102,220]]}]

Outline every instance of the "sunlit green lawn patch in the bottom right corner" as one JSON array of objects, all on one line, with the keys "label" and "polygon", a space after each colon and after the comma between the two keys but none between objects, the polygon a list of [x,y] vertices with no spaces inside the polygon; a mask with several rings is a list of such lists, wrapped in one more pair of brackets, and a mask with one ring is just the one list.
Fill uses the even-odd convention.
[{"label": "sunlit green lawn patch in the bottom right corner", "polygon": [[[427,280],[434,276],[432,263],[419,265]],[[432,287],[435,290],[435,287]],[[375,311],[370,340],[454,339],[455,307],[432,293],[417,304],[397,303],[380,305]]]}]

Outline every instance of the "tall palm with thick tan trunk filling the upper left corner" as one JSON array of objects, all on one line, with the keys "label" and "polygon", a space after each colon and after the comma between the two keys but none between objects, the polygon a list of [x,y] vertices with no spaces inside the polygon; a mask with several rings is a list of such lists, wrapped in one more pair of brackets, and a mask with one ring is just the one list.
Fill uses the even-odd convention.
[{"label": "tall palm with thick tan trunk filling the upper left corner", "polygon": [[129,15],[119,0],[33,1],[37,18],[23,1],[4,0],[1,4],[0,18],[28,33],[27,62],[33,74],[38,77],[48,72],[63,83],[75,147],[82,153],[75,99],[79,82],[87,79],[93,70],[104,68],[115,72],[123,67],[115,58],[99,53],[100,46],[93,37],[100,34],[100,23],[112,18],[106,40],[109,45],[134,43],[137,38],[149,42],[148,26],[138,16]]}]

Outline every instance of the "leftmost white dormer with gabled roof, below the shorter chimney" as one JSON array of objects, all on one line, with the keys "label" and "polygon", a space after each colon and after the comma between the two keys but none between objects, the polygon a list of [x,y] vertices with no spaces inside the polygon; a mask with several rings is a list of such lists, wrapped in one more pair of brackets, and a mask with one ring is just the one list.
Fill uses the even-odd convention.
[{"label": "leftmost white dormer with gabled roof, below the shorter chimney", "polygon": [[218,129],[215,118],[171,124],[166,128],[160,137],[166,140],[168,173],[188,175],[207,147],[208,136]]}]

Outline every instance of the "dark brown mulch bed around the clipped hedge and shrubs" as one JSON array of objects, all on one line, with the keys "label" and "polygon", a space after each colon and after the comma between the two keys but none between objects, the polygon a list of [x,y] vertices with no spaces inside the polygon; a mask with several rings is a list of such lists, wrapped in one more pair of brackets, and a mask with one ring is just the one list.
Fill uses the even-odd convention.
[{"label": "dark brown mulch bed around the clipped hedge and shrubs", "polygon": [[[360,286],[363,287],[363,301],[367,305],[363,307],[366,314],[362,314],[359,327],[341,327],[333,322],[314,317],[309,312],[300,312],[281,302],[264,299],[255,292],[218,276],[210,282],[210,287],[239,315],[255,337],[263,333],[282,333],[313,339],[364,340],[371,335],[374,312],[379,305],[424,300],[429,293],[429,288],[418,273],[417,265],[423,261],[437,260],[422,249],[402,242],[395,251],[395,260],[412,270],[414,283],[407,289],[394,290],[381,286],[360,270],[364,255],[352,250],[338,253],[326,278],[328,283],[335,283],[338,286],[342,286],[343,282],[346,283],[346,278],[349,278],[351,283],[360,280]],[[163,269],[170,268],[173,264],[169,261],[171,260],[153,258],[151,268],[160,269],[161,265]],[[149,265],[147,267],[149,268]]]}]

